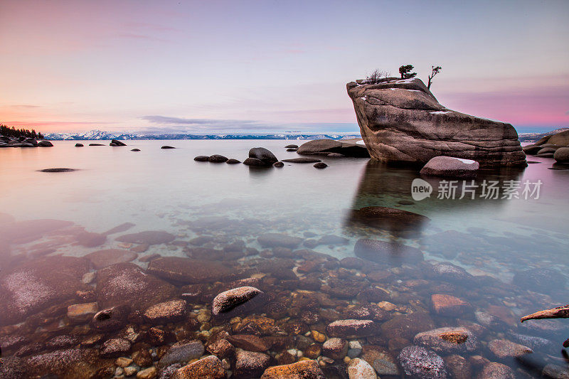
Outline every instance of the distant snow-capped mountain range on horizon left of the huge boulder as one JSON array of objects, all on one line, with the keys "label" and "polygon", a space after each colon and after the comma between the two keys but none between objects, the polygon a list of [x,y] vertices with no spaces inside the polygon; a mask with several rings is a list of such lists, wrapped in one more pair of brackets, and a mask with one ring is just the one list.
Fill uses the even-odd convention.
[{"label": "distant snow-capped mountain range on horizon left of the huge boulder", "polygon": [[85,133],[50,133],[51,140],[110,140],[110,139],[351,139],[361,138],[360,134],[188,134],[188,133],[120,133],[91,130]]}]

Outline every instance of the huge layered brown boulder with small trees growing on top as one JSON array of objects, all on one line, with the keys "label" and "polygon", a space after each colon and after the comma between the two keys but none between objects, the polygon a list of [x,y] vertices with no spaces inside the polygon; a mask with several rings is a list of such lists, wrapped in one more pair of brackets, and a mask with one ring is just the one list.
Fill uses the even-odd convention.
[{"label": "huge layered brown boulder with small trees growing on top", "polygon": [[472,159],[481,166],[526,166],[511,124],[449,110],[417,78],[349,82],[347,90],[372,158],[425,164],[445,155]]}]

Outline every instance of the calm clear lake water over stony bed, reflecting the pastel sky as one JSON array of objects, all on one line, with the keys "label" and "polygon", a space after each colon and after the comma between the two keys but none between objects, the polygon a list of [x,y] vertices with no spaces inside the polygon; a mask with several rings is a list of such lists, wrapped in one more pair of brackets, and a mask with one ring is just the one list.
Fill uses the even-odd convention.
[{"label": "calm clear lake water over stony bed, reflecting the pastel sky", "polygon": [[[405,346],[421,343],[415,334],[441,327],[467,329],[476,340],[457,348],[425,345],[445,358],[449,378],[459,378],[459,370],[480,373],[484,361],[477,356],[504,363],[521,377],[539,377],[546,367],[567,369],[561,343],[569,337],[569,322],[519,323],[525,314],[569,302],[569,171],[550,169],[552,159],[529,157],[536,163],[523,170],[483,172],[467,183],[477,186],[474,199],[469,192],[460,198],[462,181],[456,183],[455,198],[439,198],[442,179],[422,177],[432,194],[418,201],[411,195],[413,179],[421,178],[418,171],[369,159],[319,156],[329,165],[323,170],[312,164],[258,169],[193,161],[211,154],[243,161],[255,146],[279,159],[296,158],[284,148],[294,141],[128,141],[129,146],[115,148],[83,143],[83,148],[53,142],[52,148],[0,149],[0,346],[5,360],[0,373],[11,375],[6,377],[120,376],[124,370],[117,369],[115,358],[132,357],[141,349],[151,359],[130,367],[156,365],[162,375],[167,365],[159,361],[169,346],[196,338],[210,346],[219,329],[270,341],[272,346],[257,350],[267,353],[272,365],[292,363],[299,357],[287,351],[309,356],[308,347],[316,343],[315,350],[322,342],[310,331],[330,337],[334,333],[326,326],[342,319],[374,321],[373,333],[343,337],[361,343],[358,355],[376,363],[382,378],[403,372],[397,357]],[[176,149],[160,149],[166,144]],[[77,171],[39,171],[48,168]],[[539,193],[523,193],[524,183],[534,190],[538,181]],[[499,188],[499,198],[484,198],[483,186],[489,183]],[[508,186],[519,186],[519,198],[502,198]],[[358,212],[364,207],[426,218],[405,213],[366,218]],[[166,233],[130,236],[143,231]],[[362,239],[389,244],[380,248],[372,242],[370,247],[366,240],[358,242]],[[409,254],[408,247],[414,248]],[[117,251],[90,255],[107,249]],[[89,257],[60,260],[60,255]],[[183,257],[188,267],[196,261],[212,265],[188,269],[189,276],[174,272],[184,271],[181,262],[186,261],[166,260],[161,268],[149,269],[164,257]],[[361,260],[345,259],[355,257]],[[124,262],[148,269],[142,275],[156,282],[132,279],[135,273],[130,282],[112,287],[113,277],[136,271]],[[208,270],[214,274],[203,273]],[[246,278],[252,279],[238,284],[255,284],[265,292],[264,302],[238,316],[257,323],[255,315],[267,317],[274,324],[270,330],[251,330],[209,314],[216,294],[239,287],[230,282]],[[156,324],[140,316],[171,299],[186,299],[184,319]],[[68,306],[95,301],[83,316],[68,311]],[[92,324],[95,310],[123,303],[130,309],[120,328]],[[144,337],[127,338],[132,346],[99,358],[105,341],[124,338],[129,326]],[[151,326],[166,337],[153,338]],[[277,336],[289,339],[277,343]],[[513,357],[520,355],[512,353],[517,347],[504,340],[533,353]],[[234,345],[251,348],[239,341]],[[87,353],[93,356],[82,355]],[[454,355],[466,363],[459,365]],[[62,356],[68,361],[55,363]],[[309,358],[321,361],[326,377],[341,378],[343,357],[321,356]],[[233,373],[239,371],[233,358],[228,362]]]}]

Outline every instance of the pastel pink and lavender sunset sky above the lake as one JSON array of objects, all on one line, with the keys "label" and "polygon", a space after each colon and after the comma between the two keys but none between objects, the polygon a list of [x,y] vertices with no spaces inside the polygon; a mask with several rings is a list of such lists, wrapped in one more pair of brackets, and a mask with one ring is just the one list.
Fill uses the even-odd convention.
[{"label": "pastel pink and lavender sunset sky above the lake", "polygon": [[0,1],[0,122],[42,132],[356,132],[346,82],[569,126],[569,1]]}]

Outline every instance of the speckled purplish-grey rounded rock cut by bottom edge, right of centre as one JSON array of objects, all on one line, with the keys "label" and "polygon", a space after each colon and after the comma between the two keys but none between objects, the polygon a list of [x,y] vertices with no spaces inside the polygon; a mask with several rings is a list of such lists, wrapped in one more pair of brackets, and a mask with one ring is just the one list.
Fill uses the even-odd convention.
[{"label": "speckled purplish-grey rounded rock cut by bottom edge, right of centre", "polygon": [[405,375],[418,379],[448,378],[445,361],[434,351],[421,346],[407,346],[397,357]]}]

